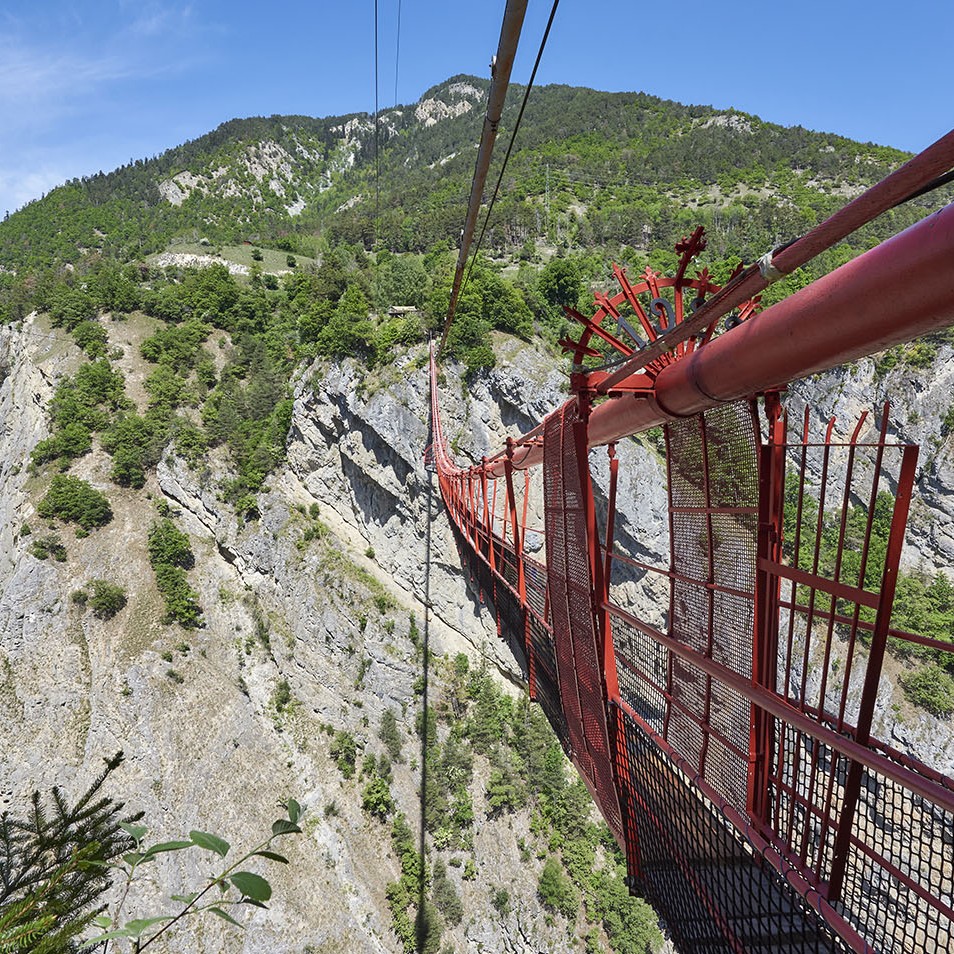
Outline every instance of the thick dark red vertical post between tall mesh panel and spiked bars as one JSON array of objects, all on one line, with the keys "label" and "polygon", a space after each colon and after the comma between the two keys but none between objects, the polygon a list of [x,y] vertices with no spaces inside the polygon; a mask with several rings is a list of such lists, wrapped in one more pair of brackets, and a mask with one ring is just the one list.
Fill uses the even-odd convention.
[{"label": "thick dark red vertical post between tall mesh panel and spiked bars", "polygon": [[[778,671],[780,580],[765,569],[763,561],[778,563],[782,555],[786,422],[777,391],[766,393],[765,415],[768,419],[768,441],[759,450],[752,681],[774,692]],[[750,712],[747,808],[753,821],[768,825],[771,814],[769,773],[775,745],[775,720],[754,704]]]}]

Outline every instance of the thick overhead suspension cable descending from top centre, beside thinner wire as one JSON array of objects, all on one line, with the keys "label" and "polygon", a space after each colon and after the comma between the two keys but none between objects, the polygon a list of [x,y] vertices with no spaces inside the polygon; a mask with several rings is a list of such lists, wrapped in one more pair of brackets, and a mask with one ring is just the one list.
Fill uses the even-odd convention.
[{"label": "thick overhead suspension cable descending from top centre, beside thinner wire", "polygon": [[447,343],[447,334],[454,320],[457,309],[457,300],[460,296],[461,281],[464,277],[464,265],[467,262],[470,243],[473,241],[474,229],[477,225],[477,215],[480,212],[480,202],[484,193],[484,183],[487,181],[487,172],[490,168],[490,157],[494,151],[494,142],[497,138],[497,126],[503,113],[504,100],[507,97],[507,87],[510,85],[510,72],[513,69],[514,57],[517,53],[517,41],[520,39],[520,30],[523,28],[523,18],[527,12],[527,0],[507,0],[504,10],[503,23],[500,27],[500,40],[497,44],[497,55],[490,68],[490,92],[487,97],[487,114],[484,117],[484,127],[480,137],[480,148],[477,152],[477,163],[474,167],[474,177],[471,182],[470,201],[467,206],[467,218],[460,239],[460,254],[457,257],[457,268],[454,272],[454,284],[451,288],[450,302],[447,306],[447,318],[444,320],[444,330],[441,334],[437,353],[444,350]]}]

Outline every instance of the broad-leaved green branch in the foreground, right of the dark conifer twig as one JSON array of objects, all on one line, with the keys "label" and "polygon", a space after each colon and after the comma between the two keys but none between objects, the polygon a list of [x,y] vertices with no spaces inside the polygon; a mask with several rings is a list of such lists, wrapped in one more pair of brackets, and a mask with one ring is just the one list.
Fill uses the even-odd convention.
[{"label": "broad-leaved green branch in the foreground, right of the dark conifer twig", "polygon": [[[121,927],[120,915],[130,886],[136,876],[137,871],[145,864],[161,855],[173,851],[186,851],[190,848],[201,848],[212,852],[219,858],[224,859],[231,845],[218,835],[210,834],[204,831],[189,832],[189,839],[177,841],[164,841],[148,848],[143,847],[143,840],[146,837],[148,829],[145,825],[123,824],[122,828],[135,841],[136,850],[127,852],[122,856],[121,861],[112,863],[111,866],[119,868],[125,875],[126,884],[123,889],[122,897],[117,906],[115,918],[107,916],[93,919],[93,923],[100,928],[107,928],[105,933],[90,938],[83,945],[84,948],[91,948],[98,944],[103,945],[105,952],[109,948],[111,940],[119,938],[128,938],[132,942],[131,950],[134,954],[144,951],[153,941],[168,931],[173,925],[187,917],[198,914],[209,913],[216,917],[234,924],[237,927],[243,925],[237,921],[227,908],[234,908],[236,905],[251,905],[257,908],[267,907],[266,902],[272,896],[272,886],[260,874],[254,871],[246,871],[243,865],[252,858],[265,858],[267,861],[274,861],[279,864],[288,864],[288,859],[272,850],[272,843],[285,835],[300,834],[301,828],[298,821],[301,818],[301,806],[294,799],[289,799],[282,806],[287,817],[276,819],[272,823],[272,833],[268,838],[255,845],[235,862],[225,868],[221,873],[209,879],[208,884],[201,891],[192,894],[172,895],[172,900],[181,904],[181,909],[175,914],[164,914],[150,918],[136,918],[127,921]],[[218,895],[214,889],[218,889]],[[211,898],[209,897],[211,895]],[[152,934],[150,930],[156,928]],[[148,936],[147,936],[148,935]]]}]

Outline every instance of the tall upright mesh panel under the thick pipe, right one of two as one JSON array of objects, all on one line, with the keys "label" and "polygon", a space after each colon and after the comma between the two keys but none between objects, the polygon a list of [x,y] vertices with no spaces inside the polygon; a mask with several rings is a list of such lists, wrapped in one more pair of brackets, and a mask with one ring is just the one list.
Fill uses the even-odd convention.
[{"label": "tall upright mesh panel under the thick pipe, right one of two", "polygon": [[[750,678],[758,468],[749,406],[730,405],[670,424],[667,447],[670,635]],[[736,689],[675,657],[671,693],[664,737],[723,798],[745,810],[749,703]]]}]

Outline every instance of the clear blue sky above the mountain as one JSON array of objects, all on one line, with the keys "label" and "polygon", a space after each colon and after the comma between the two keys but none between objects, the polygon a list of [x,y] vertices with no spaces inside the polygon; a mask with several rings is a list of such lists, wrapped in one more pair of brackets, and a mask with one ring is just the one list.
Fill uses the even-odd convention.
[{"label": "clear blue sky above the mountain", "polygon": [[[504,0],[378,0],[379,101],[488,75]],[[530,0],[513,79],[551,0]],[[668,12],[667,12],[668,11]],[[227,119],[374,107],[373,0],[4,0],[0,215]],[[916,151],[954,125],[954,0],[561,0],[538,83],[644,90]],[[397,67],[397,69],[396,69]]]}]

